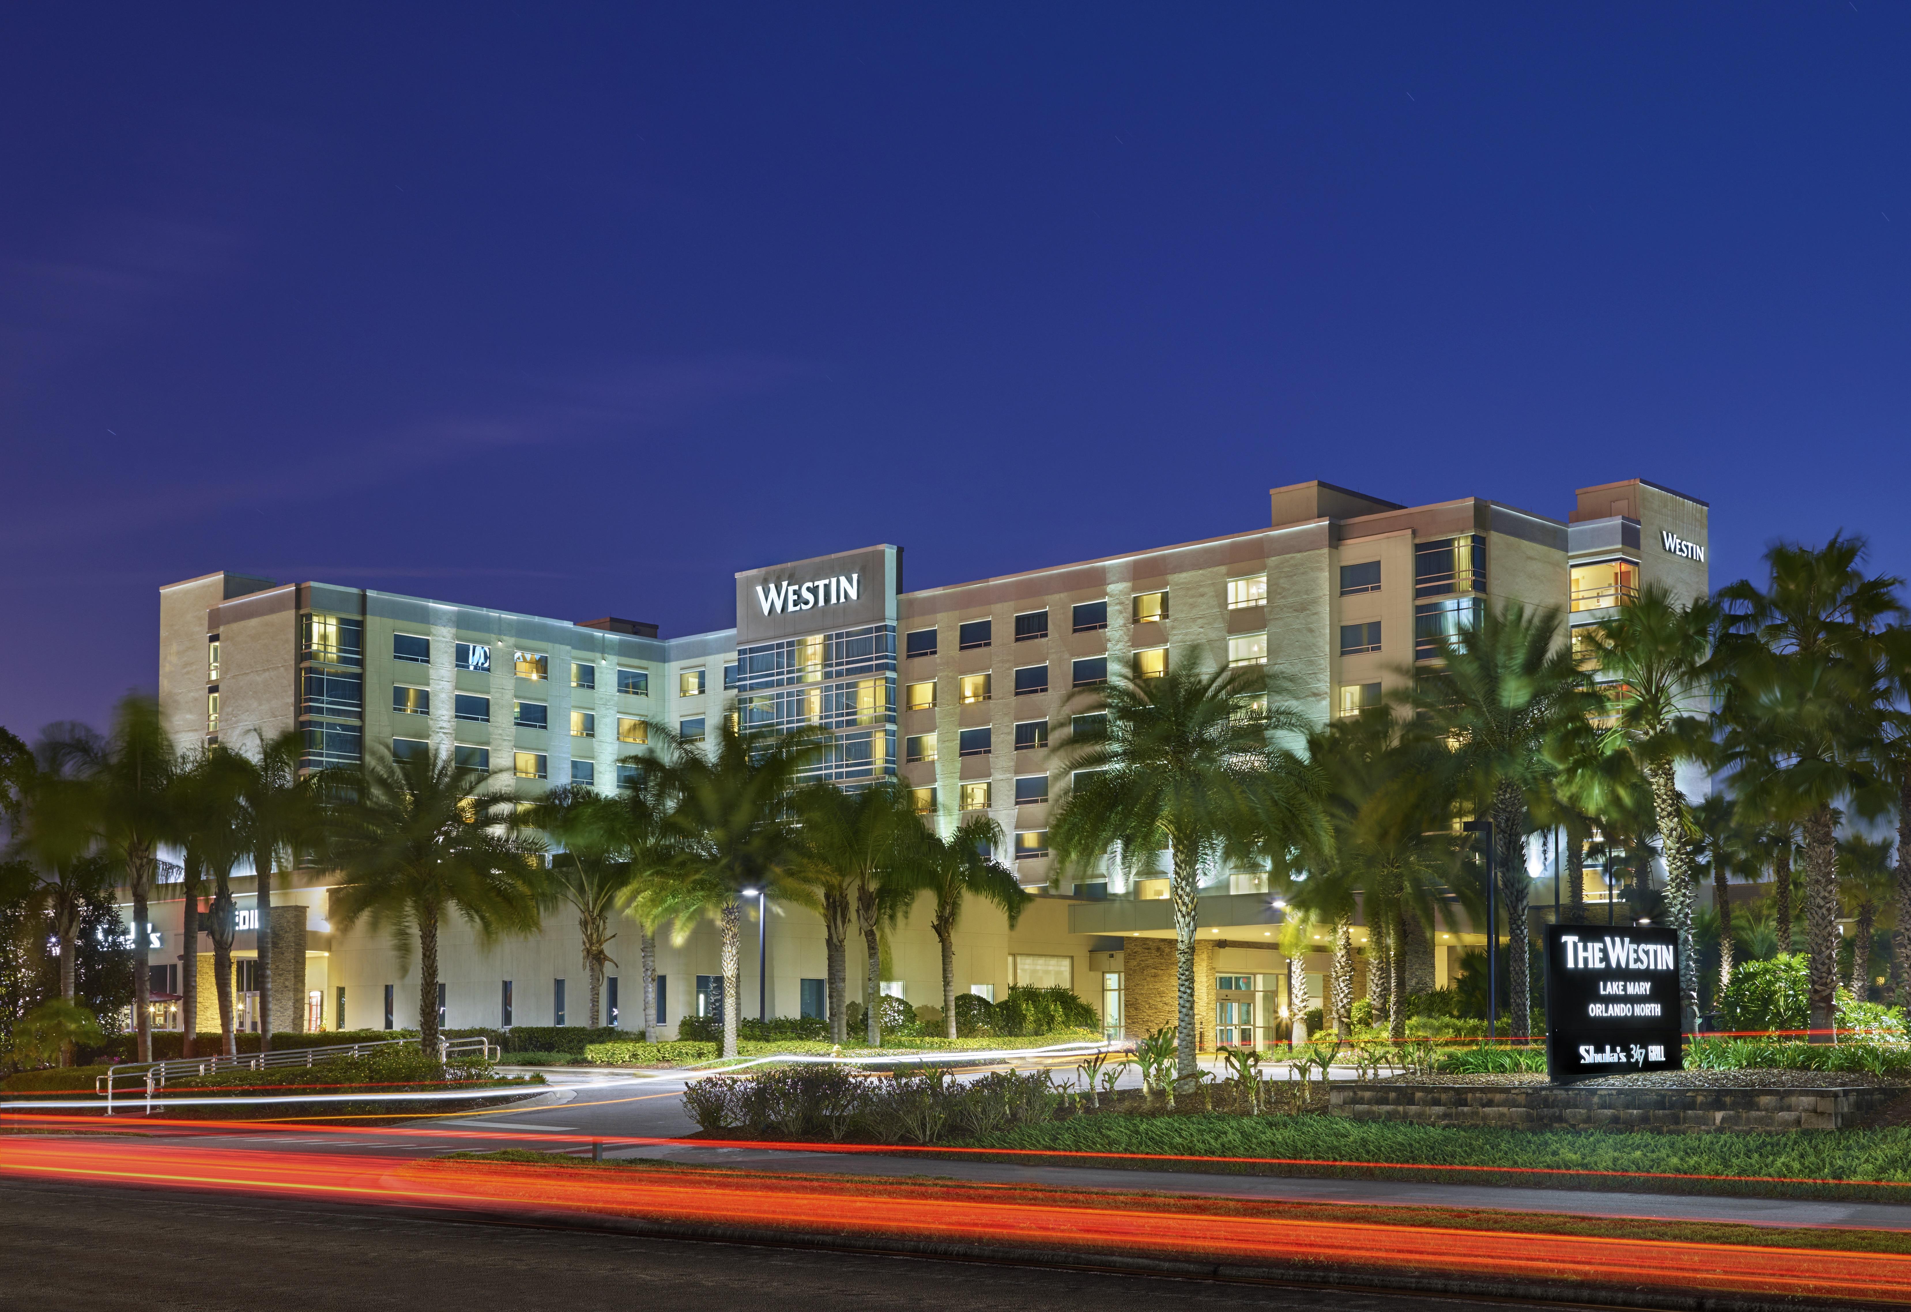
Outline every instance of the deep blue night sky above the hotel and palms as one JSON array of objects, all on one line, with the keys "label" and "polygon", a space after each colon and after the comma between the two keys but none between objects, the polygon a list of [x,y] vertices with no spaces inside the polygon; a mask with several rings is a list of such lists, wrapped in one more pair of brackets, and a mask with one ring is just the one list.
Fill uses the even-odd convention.
[{"label": "deep blue night sky above the hotel and palms", "polygon": [[1643,476],[1911,573],[1911,8],[11,6],[0,724],[157,586],[730,623]]}]

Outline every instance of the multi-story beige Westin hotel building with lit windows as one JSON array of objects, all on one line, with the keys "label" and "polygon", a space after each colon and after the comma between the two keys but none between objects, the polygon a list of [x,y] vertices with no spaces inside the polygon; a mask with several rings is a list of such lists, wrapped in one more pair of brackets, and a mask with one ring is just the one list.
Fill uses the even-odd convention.
[{"label": "multi-story beige Westin hotel building with lit windows", "polygon": [[[1049,804],[1066,787],[1047,735],[1110,672],[1265,665],[1280,697],[1324,722],[1406,686],[1439,636],[1485,607],[1552,607],[1577,626],[1647,582],[1701,596],[1707,546],[1707,504],[1640,479],[1580,489],[1567,519],[1471,497],[1399,506],[1301,483],[1273,491],[1265,529],[938,588],[904,588],[896,544],[751,569],[734,579],[736,628],[686,638],[623,619],[571,623],[216,573],[161,588],[161,709],[182,751],[214,741],[248,751],[300,730],[308,768],[365,751],[453,754],[508,773],[522,798],[566,783],[615,791],[659,724],[692,739],[726,714],[747,728],[822,726],[833,745],[818,777],[845,787],[898,777],[944,831],[988,814],[1005,835],[1001,859],[1038,894],[1013,928],[992,907],[967,909],[957,991],[1064,984],[1108,1029],[1145,1033],[1173,1010],[1166,878],[1112,869],[1064,882],[1047,850]],[[1267,1041],[1288,1001],[1277,898],[1254,869],[1202,880],[1202,1039],[1244,1041],[1252,1029]],[[415,961],[363,926],[334,926],[333,882],[306,871],[273,894],[264,930],[273,1027],[417,1024]],[[262,930],[256,911],[247,915],[250,878],[235,890],[245,985]],[[145,932],[155,987],[176,993],[183,907],[164,892]],[[1550,896],[1536,888],[1535,901]],[[759,913],[751,905],[751,938]],[[757,1014],[759,997],[772,1016],[820,1014],[822,922],[772,899],[762,942],[761,976],[759,955],[745,953],[741,1014]],[[1479,936],[1458,915],[1416,942],[1414,982],[1447,984],[1468,942]],[[1307,974],[1324,976],[1324,949],[1307,955]],[[612,955],[606,1024],[636,1027],[634,924],[621,926]],[[199,961],[210,972],[210,957]],[[891,936],[889,963],[885,993],[940,1003],[925,915]],[[717,974],[711,926],[659,938],[667,1033],[711,1005]],[[577,928],[562,915],[539,934],[489,943],[447,926],[440,978],[449,1026],[587,1024]],[[850,980],[850,997],[860,993]],[[1311,995],[1322,995],[1319,978]],[[212,1027],[210,1001],[201,1008]]]}]

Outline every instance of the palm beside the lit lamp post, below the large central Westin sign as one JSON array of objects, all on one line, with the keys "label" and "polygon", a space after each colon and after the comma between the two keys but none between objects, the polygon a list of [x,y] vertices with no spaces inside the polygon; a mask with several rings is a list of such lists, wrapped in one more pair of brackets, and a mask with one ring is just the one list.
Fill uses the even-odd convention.
[{"label": "palm beside the lit lamp post, below the large central Westin sign", "polygon": [[652,730],[638,758],[669,810],[669,873],[638,894],[648,924],[669,921],[682,942],[698,921],[719,926],[722,1056],[736,1056],[743,896],[806,901],[789,877],[797,859],[791,798],[818,747],[814,731],[741,733],[722,716],[707,745]]}]

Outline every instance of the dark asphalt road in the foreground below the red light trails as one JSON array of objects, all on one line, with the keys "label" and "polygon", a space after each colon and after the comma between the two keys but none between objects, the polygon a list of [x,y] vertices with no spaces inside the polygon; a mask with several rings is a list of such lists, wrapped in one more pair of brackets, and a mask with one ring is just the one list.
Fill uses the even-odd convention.
[{"label": "dark asphalt road in the foreground below the red light trails", "polygon": [[0,1178],[0,1308],[474,1312],[478,1308],[1557,1306],[1359,1289],[640,1239],[382,1207]]}]

